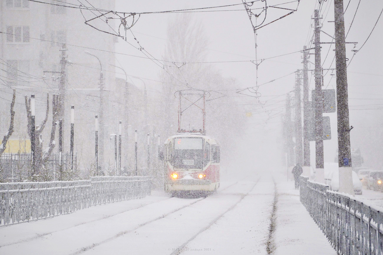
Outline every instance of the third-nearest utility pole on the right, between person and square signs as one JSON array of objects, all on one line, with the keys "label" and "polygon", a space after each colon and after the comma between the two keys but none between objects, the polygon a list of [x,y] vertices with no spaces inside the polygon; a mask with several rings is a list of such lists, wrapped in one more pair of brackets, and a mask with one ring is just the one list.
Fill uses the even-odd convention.
[{"label": "third-nearest utility pole on the right, between person and square signs", "polygon": [[303,175],[310,177],[308,49],[303,46]]}]

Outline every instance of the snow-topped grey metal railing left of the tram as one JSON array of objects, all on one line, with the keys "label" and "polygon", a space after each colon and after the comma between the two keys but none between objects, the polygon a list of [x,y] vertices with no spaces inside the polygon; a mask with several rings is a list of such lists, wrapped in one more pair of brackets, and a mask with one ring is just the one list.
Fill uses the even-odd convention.
[{"label": "snow-topped grey metal railing left of the tram", "polygon": [[72,213],[92,205],[149,195],[150,177],[0,183],[0,226]]}]

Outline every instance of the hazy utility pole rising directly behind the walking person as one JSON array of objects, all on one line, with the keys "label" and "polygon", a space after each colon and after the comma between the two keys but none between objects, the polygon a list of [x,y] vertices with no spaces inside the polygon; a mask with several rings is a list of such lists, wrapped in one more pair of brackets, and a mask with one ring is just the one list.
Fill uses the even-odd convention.
[{"label": "hazy utility pole rising directly behind the walking person", "polygon": [[299,70],[296,72],[295,80],[295,162],[302,166],[302,115],[301,115],[301,76]]}]

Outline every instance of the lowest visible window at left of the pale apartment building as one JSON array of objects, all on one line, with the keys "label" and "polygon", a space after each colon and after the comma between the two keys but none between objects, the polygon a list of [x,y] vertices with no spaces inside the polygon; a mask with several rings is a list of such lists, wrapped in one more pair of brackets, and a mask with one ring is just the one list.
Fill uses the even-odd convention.
[{"label": "lowest visible window at left of the pale apartment building", "polygon": [[7,83],[9,86],[17,85],[23,80],[26,81],[28,73],[29,60],[7,60]]}]

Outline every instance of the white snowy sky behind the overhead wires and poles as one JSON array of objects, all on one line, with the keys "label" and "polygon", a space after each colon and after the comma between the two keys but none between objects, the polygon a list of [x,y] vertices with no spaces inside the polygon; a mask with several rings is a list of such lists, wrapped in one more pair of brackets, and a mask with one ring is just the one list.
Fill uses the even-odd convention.
[{"label": "white snowy sky behind the overhead wires and poles", "polygon": [[[288,2],[284,0],[269,0],[268,5],[274,5],[278,3]],[[346,6],[349,1],[345,0]],[[186,1],[154,1],[147,0],[144,3],[141,1],[116,1],[116,10],[127,12],[142,12],[142,11],[165,11],[165,10],[178,10],[185,8],[200,8],[207,6],[219,6],[219,5],[231,5],[241,3],[241,1],[233,0],[213,0],[206,3],[206,1],[196,0],[193,2]],[[295,9],[297,2],[282,5],[286,8]],[[357,8],[358,1],[352,0],[349,8],[345,13],[345,29],[348,30],[355,10]],[[263,2],[254,3],[253,7],[262,7]],[[280,19],[275,23],[272,23],[264,28],[258,30],[258,58],[274,57],[281,54],[295,52],[301,50],[303,45],[306,45],[311,39],[313,29],[310,28],[310,24],[313,22],[311,16],[313,16],[314,9],[318,8],[318,1],[301,0],[298,6],[298,11]],[[98,6],[97,6],[98,7]],[[350,33],[346,39],[348,42],[359,42],[355,49],[363,44],[367,39],[373,25],[378,18],[381,9],[383,8],[383,2],[381,1],[369,1],[368,4],[361,2],[357,15],[355,16],[354,23],[350,29]],[[242,11],[219,11],[219,12],[204,12],[193,13],[196,19],[201,21],[205,27],[206,34],[209,39],[208,56],[206,61],[238,61],[238,60],[255,60],[254,50],[254,34],[250,25],[249,18],[246,11],[243,10],[242,5],[230,6],[221,8],[221,10],[242,10]],[[217,9],[213,9],[217,10]],[[272,21],[287,14],[288,10],[280,10],[276,8],[268,8],[267,19],[265,23]],[[161,58],[164,53],[165,44],[167,42],[167,26],[170,20],[175,17],[174,13],[160,13],[160,14],[146,14],[141,15],[139,21],[134,25],[132,31],[134,32],[137,40],[140,42],[150,54],[156,58]],[[321,16],[323,15],[322,22],[324,32],[328,34],[334,34],[334,23],[327,21],[334,20],[334,6],[333,1],[327,1],[323,3],[321,8]],[[263,14],[260,16],[259,21],[263,19]],[[383,19],[383,18],[382,18]],[[254,18],[253,18],[254,20]],[[381,63],[382,52],[378,50],[383,39],[383,20],[380,20],[376,25],[371,37],[367,43],[363,46],[363,49],[355,55],[352,60],[352,64],[348,68],[348,84],[349,84],[349,97],[350,97],[350,125],[353,125],[355,129],[352,131],[352,147],[363,147],[367,150],[368,145],[363,144],[364,136],[366,135],[366,128],[376,127],[380,122],[381,110],[360,110],[364,108],[377,108],[380,104],[380,99],[383,100],[383,91],[381,86],[381,70],[383,65]],[[129,36],[128,36],[129,38]],[[322,42],[330,42],[331,37],[326,34],[321,34]],[[134,43],[134,41],[131,41]],[[334,44],[322,45],[322,63],[326,57],[327,51],[329,56],[323,64],[323,68],[329,68],[332,58],[334,57]],[[347,57],[352,57],[351,50],[354,45],[347,45]],[[125,54],[141,55],[139,50],[134,49],[131,45],[119,39],[116,44],[116,52]],[[273,58],[265,60],[259,65],[259,80],[258,83],[262,84],[279,78],[280,76],[287,75],[302,68],[300,53],[290,54],[283,57]],[[125,68],[130,75],[136,75],[153,80],[159,80],[159,73],[162,72],[161,68],[155,65],[151,60],[129,57],[123,55],[116,55],[118,62]],[[184,62],[185,60],[175,60],[178,62]],[[311,56],[311,62],[314,62],[314,57]],[[116,63],[118,65],[118,62]],[[214,67],[221,70],[226,77],[235,78],[241,87],[248,87],[255,85],[255,65],[250,62],[245,63],[215,63]],[[332,67],[335,66],[335,61]],[[314,68],[311,64],[309,68]],[[335,71],[334,71],[335,73]],[[336,88],[335,77],[331,79],[331,71],[324,77],[324,87]],[[121,76],[121,78],[123,78]],[[311,80],[310,89],[314,87],[313,76],[309,73]],[[142,82],[132,78],[132,81],[137,86],[142,86]],[[259,92],[262,93],[261,101],[265,101],[272,97],[267,96],[279,96],[273,99],[274,101],[267,104],[274,104],[267,109],[272,109],[278,106],[283,106],[284,101],[278,102],[278,100],[285,99],[285,93],[292,91],[295,82],[295,76],[289,75],[273,83],[261,86]],[[141,84],[141,85],[140,85]],[[160,88],[160,83],[155,81],[146,81],[146,85],[151,88]],[[367,93],[367,94],[363,94]],[[311,93],[310,93],[311,94]],[[291,95],[293,96],[293,94]],[[377,98],[379,100],[370,101],[362,100],[367,98]],[[256,102],[251,97],[243,97],[243,100]],[[373,106],[364,106],[372,104]],[[363,105],[363,106],[361,106]],[[355,107],[353,107],[355,106]],[[247,110],[257,108],[256,105]],[[358,110],[354,110],[358,109]],[[277,110],[283,110],[283,107]],[[278,111],[270,112],[270,115],[278,113]],[[282,116],[282,112],[279,114]],[[326,115],[326,114],[325,114]],[[336,140],[336,114],[329,114],[331,116],[332,123],[332,137],[331,141],[325,142],[325,160],[333,161],[334,153],[336,152],[337,140]],[[281,118],[276,117],[273,120],[264,124],[262,120],[267,119],[267,115],[253,115],[249,118],[250,125],[249,132],[261,132],[263,135],[268,134],[268,137],[280,137]],[[254,128],[253,128],[254,127]],[[273,139],[275,140],[275,139]],[[326,153],[328,151],[329,153]],[[368,157],[368,156],[367,156]]]}]

